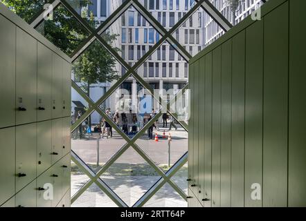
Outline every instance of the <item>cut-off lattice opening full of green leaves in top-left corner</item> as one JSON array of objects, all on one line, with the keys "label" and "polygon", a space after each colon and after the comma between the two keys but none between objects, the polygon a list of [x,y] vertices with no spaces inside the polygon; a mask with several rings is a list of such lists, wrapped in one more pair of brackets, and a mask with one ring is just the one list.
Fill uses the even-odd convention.
[{"label": "cut-off lattice opening full of green leaves in top-left corner", "polygon": [[30,23],[37,13],[44,9],[46,0],[31,0],[31,1],[0,1],[9,10],[17,14],[21,19]]}]

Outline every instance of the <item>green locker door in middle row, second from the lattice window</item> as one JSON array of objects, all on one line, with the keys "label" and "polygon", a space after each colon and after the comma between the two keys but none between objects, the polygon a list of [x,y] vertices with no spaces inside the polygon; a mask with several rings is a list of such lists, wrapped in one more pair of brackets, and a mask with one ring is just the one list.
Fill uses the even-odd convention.
[{"label": "green locker door in middle row, second from the lattice window", "polygon": [[62,158],[62,119],[52,120],[52,164]]}]

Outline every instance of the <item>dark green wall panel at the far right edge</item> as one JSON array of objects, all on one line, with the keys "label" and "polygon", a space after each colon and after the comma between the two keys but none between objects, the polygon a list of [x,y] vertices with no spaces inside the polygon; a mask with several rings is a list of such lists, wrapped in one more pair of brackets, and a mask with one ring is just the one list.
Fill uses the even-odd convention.
[{"label": "dark green wall panel at the far right edge", "polygon": [[306,1],[290,1],[288,206],[306,206]]}]

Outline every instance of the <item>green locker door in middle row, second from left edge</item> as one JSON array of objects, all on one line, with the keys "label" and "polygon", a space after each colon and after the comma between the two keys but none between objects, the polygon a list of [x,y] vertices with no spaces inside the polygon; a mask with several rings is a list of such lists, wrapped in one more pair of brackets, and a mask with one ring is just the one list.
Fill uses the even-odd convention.
[{"label": "green locker door in middle row, second from left edge", "polygon": [[36,123],[16,127],[16,191],[36,177]]}]

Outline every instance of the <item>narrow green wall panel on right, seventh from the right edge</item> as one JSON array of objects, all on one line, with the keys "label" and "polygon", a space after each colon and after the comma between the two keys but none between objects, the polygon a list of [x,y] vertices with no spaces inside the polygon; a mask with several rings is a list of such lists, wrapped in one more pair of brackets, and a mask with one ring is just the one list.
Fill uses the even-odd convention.
[{"label": "narrow green wall panel on right, seventh from the right edge", "polygon": [[205,84],[204,84],[204,207],[211,206],[211,125],[212,125],[212,97],[213,97],[213,53],[205,56]]}]

